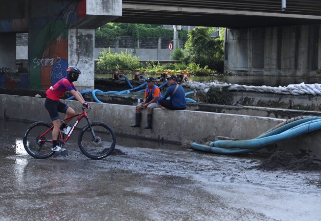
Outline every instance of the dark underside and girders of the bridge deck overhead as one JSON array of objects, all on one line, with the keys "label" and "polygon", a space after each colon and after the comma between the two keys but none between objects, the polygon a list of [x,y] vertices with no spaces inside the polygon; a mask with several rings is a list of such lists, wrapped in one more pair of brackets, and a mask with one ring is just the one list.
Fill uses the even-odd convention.
[{"label": "dark underside and girders of the bridge deck overhead", "polygon": [[251,28],[318,24],[320,0],[122,0],[114,22]]}]

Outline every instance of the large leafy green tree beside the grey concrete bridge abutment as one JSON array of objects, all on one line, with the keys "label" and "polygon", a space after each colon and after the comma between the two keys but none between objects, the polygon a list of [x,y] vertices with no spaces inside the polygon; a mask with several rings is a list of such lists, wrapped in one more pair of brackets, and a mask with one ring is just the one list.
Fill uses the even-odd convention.
[{"label": "large leafy green tree beside the grey concrete bridge abutment", "polygon": [[189,62],[206,65],[219,73],[223,72],[224,41],[210,36],[213,28],[197,27],[188,33],[185,50]]}]

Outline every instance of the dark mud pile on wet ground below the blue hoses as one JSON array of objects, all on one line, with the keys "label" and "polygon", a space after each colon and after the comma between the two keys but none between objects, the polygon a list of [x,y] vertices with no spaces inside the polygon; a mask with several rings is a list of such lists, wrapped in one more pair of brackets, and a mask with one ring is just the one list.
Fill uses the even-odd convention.
[{"label": "dark mud pile on wet ground below the blue hoses", "polygon": [[290,153],[275,152],[264,160],[261,165],[252,167],[253,169],[275,171],[275,170],[321,170],[321,163],[304,157],[297,158]]}]

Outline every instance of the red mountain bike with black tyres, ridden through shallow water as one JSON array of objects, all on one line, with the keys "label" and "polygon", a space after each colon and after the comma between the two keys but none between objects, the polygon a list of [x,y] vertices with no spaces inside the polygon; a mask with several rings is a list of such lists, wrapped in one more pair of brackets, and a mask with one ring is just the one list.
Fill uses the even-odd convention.
[{"label": "red mountain bike with black tyres, ridden through shallow water", "polygon": [[[110,155],[115,149],[116,135],[113,129],[106,123],[91,122],[85,109],[86,108],[82,108],[82,112],[76,113],[75,115],[60,121],[62,122],[78,116],[66,137],[65,134],[59,130],[58,145],[62,148],[73,134],[81,119],[85,118],[87,120],[87,125],[79,132],[78,146],[81,152],[88,158],[93,160],[103,159]],[[55,152],[51,150],[53,145],[53,128],[53,124],[43,121],[29,125],[24,134],[23,143],[30,156],[36,159],[45,159],[55,154]]]}]

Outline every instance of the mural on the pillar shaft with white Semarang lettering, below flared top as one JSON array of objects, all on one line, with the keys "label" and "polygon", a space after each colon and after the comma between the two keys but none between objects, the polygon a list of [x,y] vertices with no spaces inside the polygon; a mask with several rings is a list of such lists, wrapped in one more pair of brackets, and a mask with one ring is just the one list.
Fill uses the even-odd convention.
[{"label": "mural on the pillar shaft with white Semarang lettering, below flared top", "polygon": [[60,79],[66,76],[67,26],[64,21],[59,20],[49,22],[41,30],[32,32],[37,33],[35,38],[29,39],[29,45],[32,45],[31,52],[29,51],[30,88],[46,89],[59,80],[56,79],[58,74]]}]

